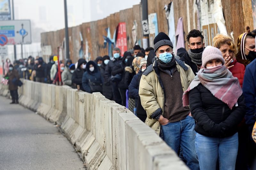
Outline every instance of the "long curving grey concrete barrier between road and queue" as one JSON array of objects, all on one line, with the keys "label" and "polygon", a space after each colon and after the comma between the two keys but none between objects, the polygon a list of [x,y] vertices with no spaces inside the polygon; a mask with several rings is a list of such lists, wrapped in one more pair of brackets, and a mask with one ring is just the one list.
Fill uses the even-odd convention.
[{"label": "long curving grey concrete barrier between road and queue", "polygon": [[[60,129],[92,170],[183,170],[177,154],[127,108],[100,93],[22,80],[19,101]],[[0,85],[5,95],[7,86]]]}]

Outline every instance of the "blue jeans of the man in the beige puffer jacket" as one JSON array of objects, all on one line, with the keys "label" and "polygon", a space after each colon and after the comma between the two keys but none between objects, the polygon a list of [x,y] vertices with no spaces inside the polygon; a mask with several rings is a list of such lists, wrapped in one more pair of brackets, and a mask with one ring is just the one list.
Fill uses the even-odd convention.
[{"label": "blue jeans of the man in the beige puffer jacket", "polygon": [[161,125],[164,134],[164,141],[177,154],[182,150],[187,166],[193,170],[199,170],[199,163],[195,149],[195,120],[191,116],[187,116],[178,122]]}]

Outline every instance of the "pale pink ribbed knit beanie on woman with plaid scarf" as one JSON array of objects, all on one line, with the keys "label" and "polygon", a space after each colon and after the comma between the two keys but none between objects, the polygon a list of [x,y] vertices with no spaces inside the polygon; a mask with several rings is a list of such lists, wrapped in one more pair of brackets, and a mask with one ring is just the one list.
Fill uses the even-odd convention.
[{"label": "pale pink ribbed knit beanie on woman with plaid scarf", "polygon": [[203,55],[202,55],[202,66],[206,68],[206,63],[213,60],[213,59],[218,59],[222,62],[222,65],[225,64],[224,58],[222,56],[221,51],[212,46],[207,46],[204,49]]}]

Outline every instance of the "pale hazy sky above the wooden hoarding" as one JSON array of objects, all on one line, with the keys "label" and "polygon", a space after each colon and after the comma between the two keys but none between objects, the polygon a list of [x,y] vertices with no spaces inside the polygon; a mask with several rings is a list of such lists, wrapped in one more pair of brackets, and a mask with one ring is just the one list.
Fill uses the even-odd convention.
[{"label": "pale hazy sky above the wooden hoarding", "polygon": [[[13,1],[15,19],[30,19],[34,27],[45,31],[64,28],[64,0]],[[68,26],[102,19],[139,3],[140,0],[67,0]]]}]

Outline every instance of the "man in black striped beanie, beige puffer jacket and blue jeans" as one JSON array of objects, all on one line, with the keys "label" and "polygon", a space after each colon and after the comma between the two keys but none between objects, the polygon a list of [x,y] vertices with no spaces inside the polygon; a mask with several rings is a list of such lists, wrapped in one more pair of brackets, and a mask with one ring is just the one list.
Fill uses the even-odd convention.
[{"label": "man in black striped beanie, beige puffer jacket and blue jeans", "polygon": [[147,112],[145,123],[178,154],[190,169],[199,169],[195,149],[195,120],[183,107],[182,94],[194,79],[192,69],[172,54],[173,45],[165,33],[154,39],[156,60],[140,79],[139,95]]}]

